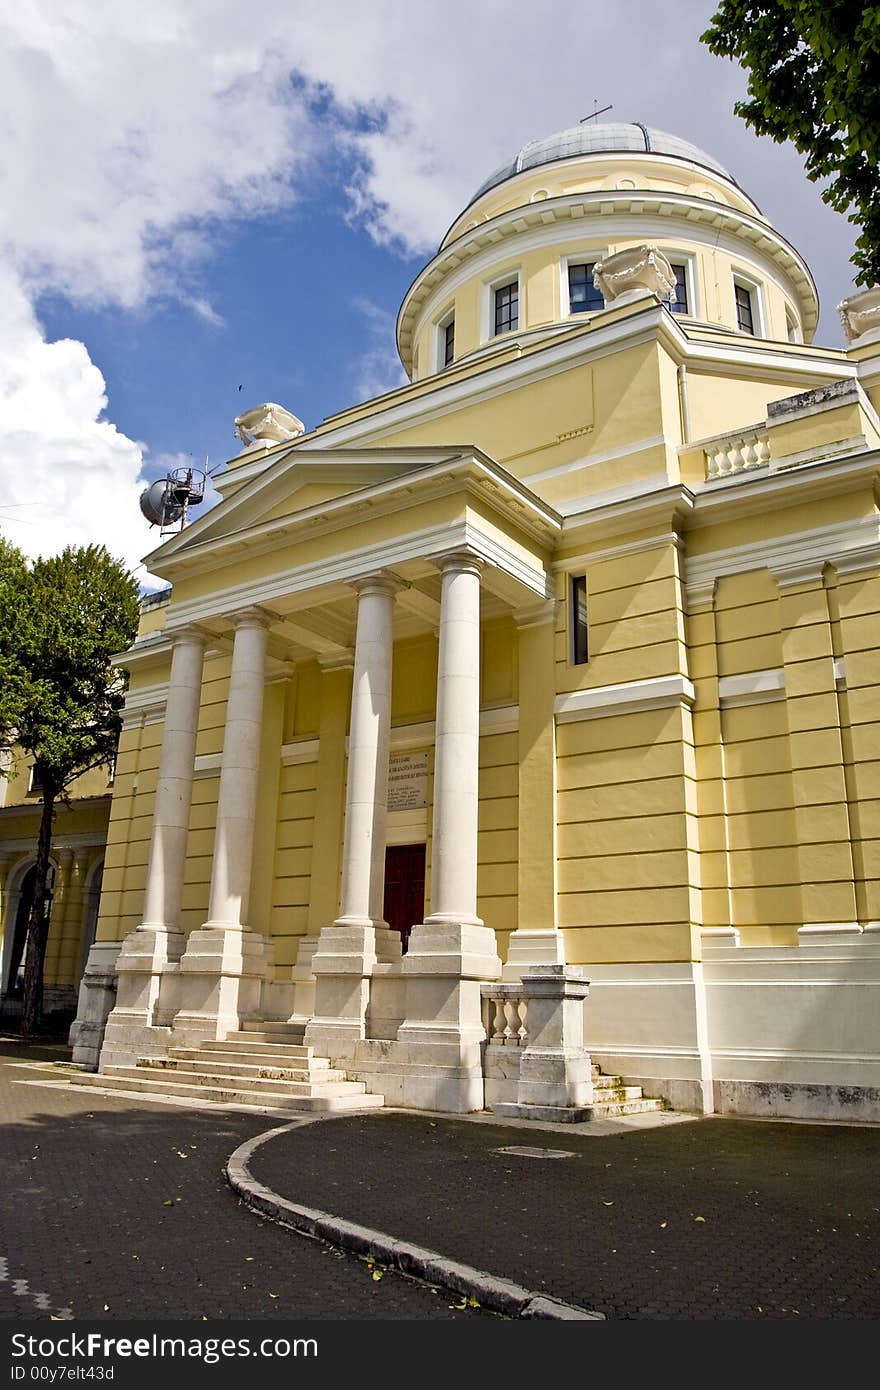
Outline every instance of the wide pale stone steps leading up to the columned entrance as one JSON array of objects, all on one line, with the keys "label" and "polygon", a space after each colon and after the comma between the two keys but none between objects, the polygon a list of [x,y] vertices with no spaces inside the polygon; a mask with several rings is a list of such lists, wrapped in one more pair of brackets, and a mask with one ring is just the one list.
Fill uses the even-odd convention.
[{"label": "wide pale stone steps leading up to the columned entrance", "polygon": [[303,1045],[303,1024],[243,1023],[222,1042],[172,1047],[168,1056],[140,1058],[135,1066],[71,1076],[74,1086],[139,1095],[213,1101],[274,1111],[338,1113],[377,1109],[384,1097],[367,1093],[363,1081]]}]

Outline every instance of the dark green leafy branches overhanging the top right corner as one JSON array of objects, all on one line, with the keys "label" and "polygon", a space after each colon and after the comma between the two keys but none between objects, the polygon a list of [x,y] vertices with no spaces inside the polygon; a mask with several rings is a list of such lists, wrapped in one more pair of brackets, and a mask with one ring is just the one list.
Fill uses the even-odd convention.
[{"label": "dark green leafy branches overhanging the top right corner", "polygon": [[748,71],[737,115],[791,140],[809,179],[830,179],[823,200],[861,228],[856,284],[880,284],[880,6],[720,0],[701,39]]}]

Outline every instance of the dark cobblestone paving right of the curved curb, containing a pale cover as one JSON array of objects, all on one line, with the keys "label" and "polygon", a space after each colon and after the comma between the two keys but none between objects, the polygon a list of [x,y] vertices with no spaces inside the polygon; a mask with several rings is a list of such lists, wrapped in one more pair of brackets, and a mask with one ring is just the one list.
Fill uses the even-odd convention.
[{"label": "dark cobblestone paving right of the curved curb, containing a pale cover", "polygon": [[587,1137],[382,1112],[270,1140],[250,1166],[609,1319],[880,1316],[880,1129],[719,1118]]}]

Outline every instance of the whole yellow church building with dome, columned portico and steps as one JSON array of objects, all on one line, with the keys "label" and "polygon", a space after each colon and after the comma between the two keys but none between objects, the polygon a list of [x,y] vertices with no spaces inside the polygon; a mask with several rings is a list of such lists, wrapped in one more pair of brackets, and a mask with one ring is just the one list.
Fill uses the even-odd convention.
[{"label": "whole yellow church building with dome, columned portico and steps", "polygon": [[817,309],[585,122],[416,277],[407,385],[241,417],[120,659],[82,1081],[880,1119],[880,291]]}]

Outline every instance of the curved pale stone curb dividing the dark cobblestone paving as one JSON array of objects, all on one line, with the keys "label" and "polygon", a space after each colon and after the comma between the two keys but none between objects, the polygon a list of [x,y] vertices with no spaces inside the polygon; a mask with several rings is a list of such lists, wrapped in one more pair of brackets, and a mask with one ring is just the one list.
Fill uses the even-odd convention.
[{"label": "curved pale stone curb dividing the dark cobblestone paving", "polygon": [[259,1183],[247,1166],[256,1150],[270,1138],[289,1134],[291,1130],[299,1129],[302,1125],[316,1123],[317,1118],[309,1116],[309,1119],[267,1130],[266,1134],[257,1134],[256,1138],[239,1144],[224,1172],[229,1187],[239,1194],[247,1207],[306,1236],[332,1241],[334,1245],[350,1250],[356,1255],[370,1255],[373,1259],[398,1269],[402,1275],[413,1275],[455,1293],[467,1294],[477,1298],[484,1308],[506,1314],[509,1318],[605,1322],[605,1314],[578,1308],[576,1304],[563,1302],[560,1298],[537,1293],[534,1289],[524,1289],[510,1279],[502,1279],[485,1269],[474,1269],[471,1265],[448,1259],[424,1245],[395,1240],[393,1236],[386,1236],[381,1230],[359,1226],[356,1222],[332,1216],[314,1207],[300,1207]]}]

